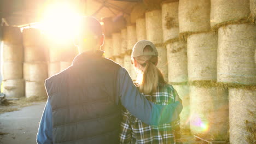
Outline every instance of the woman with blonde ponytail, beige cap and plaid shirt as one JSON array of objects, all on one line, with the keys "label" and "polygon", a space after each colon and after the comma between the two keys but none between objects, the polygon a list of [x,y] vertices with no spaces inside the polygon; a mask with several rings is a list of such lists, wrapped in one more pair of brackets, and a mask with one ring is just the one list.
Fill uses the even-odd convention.
[{"label": "woman with blonde ponytail, beige cap and plaid shirt", "polygon": [[[158,51],[152,42],[141,40],[135,44],[132,49],[132,64],[138,74],[135,85],[148,100],[162,105],[174,103],[178,94],[156,68]],[[158,126],[147,125],[123,109],[120,143],[182,143],[180,138],[179,119]]]}]

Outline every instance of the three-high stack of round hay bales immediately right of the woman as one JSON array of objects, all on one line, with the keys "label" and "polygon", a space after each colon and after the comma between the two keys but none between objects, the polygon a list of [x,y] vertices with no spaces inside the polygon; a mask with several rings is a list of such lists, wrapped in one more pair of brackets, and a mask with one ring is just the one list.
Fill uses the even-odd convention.
[{"label": "three-high stack of round hay bales immediately right of the woman", "polygon": [[181,128],[189,131],[189,88],[187,85],[187,44],[179,41],[178,1],[162,2],[162,37],[167,49],[168,82],[183,100]]}]

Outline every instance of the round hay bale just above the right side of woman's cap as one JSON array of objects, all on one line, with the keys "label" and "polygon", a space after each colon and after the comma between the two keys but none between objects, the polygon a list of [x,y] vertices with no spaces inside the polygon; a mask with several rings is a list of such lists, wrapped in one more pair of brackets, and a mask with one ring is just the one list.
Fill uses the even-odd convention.
[{"label": "round hay bale just above the right side of woman's cap", "polygon": [[161,44],[162,41],[162,12],[159,9],[146,13],[147,40],[154,44]]}]

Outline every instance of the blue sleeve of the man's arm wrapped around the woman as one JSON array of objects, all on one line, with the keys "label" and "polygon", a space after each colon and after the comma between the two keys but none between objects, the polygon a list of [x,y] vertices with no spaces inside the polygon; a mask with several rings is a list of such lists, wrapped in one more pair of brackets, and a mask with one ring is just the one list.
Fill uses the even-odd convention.
[{"label": "blue sleeve of the man's arm wrapped around the woman", "polygon": [[182,104],[179,101],[169,105],[152,103],[138,91],[124,68],[119,69],[117,80],[117,94],[121,104],[142,122],[159,125],[171,123],[179,118],[182,111]]}]

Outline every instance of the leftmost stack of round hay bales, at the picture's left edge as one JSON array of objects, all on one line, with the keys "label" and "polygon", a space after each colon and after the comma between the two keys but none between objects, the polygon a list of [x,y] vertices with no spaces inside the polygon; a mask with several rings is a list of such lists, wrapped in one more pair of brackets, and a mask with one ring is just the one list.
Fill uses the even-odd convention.
[{"label": "leftmost stack of round hay bales, at the picture's left edge", "polygon": [[3,93],[7,97],[24,97],[25,86],[22,79],[24,50],[20,28],[4,26],[2,38]]}]

